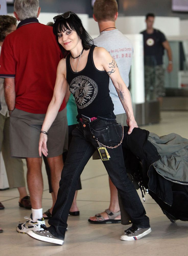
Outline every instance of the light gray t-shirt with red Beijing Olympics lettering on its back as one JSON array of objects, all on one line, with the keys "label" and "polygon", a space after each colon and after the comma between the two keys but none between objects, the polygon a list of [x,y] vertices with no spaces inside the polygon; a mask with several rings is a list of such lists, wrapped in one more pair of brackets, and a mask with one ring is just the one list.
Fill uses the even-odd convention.
[{"label": "light gray t-shirt with red Beijing Olympics lettering on its back", "polygon": [[[133,46],[131,41],[124,36],[118,29],[103,31],[100,36],[94,39],[94,44],[105,48],[115,59],[120,71],[120,75],[129,86],[129,72],[132,63]],[[121,101],[117,95],[114,85],[110,79],[109,83],[110,97],[114,104],[114,114],[119,115],[125,113]]]}]

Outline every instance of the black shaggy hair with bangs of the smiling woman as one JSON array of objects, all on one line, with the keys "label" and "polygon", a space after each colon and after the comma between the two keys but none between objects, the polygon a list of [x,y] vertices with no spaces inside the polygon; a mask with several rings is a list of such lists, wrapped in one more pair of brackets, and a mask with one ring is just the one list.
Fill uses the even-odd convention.
[{"label": "black shaggy hair with bangs of the smiling woman", "polygon": [[57,43],[63,53],[64,58],[69,54],[69,51],[65,50],[63,46],[59,44],[57,34],[66,29],[76,31],[85,50],[88,50],[91,45],[93,45],[93,39],[85,30],[81,19],[75,13],[71,12],[68,18],[63,18],[62,15],[59,15],[55,19],[55,23],[53,25],[53,33],[56,36]]}]

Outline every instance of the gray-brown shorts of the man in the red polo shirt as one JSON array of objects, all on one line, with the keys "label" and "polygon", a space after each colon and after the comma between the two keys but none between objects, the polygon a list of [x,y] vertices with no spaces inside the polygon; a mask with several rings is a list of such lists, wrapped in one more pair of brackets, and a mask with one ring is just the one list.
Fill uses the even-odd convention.
[{"label": "gray-brown shorts of the man in the red polo shirt", "polygon": [[[10,154],[12,157],[40,157],[39,137],[44,117],[45,114],[13,110],[10,116]],[[48,157],[60,156],[64,150],[68,149],[66,108],[58,112],[48,133]]]}]

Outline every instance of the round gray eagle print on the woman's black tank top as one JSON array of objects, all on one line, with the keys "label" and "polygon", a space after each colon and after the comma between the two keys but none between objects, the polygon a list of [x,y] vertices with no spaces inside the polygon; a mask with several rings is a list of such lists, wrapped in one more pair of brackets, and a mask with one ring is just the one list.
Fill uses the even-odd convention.
[{"label": "round gray eagle print on the woman's black tank top", "polygon": [[96,98],[98,86],[87,76],[77,76],[71,81],[69,90],[74,95],[78,108],[83,109]]}]

